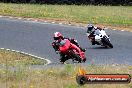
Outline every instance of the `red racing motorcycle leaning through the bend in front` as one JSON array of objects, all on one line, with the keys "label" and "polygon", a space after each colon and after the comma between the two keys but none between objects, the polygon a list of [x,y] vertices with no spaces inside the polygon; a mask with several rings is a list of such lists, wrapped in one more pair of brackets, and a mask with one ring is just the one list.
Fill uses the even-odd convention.
[{"label": "red racing motorcycle leaning through the bend in front", "polygon": [[72,44],[68,39],[61,40],[59,51],[60,53],[67,55],[72,61],[77,61],[78,63],[86,61],[84,52],[82,52],[79,47]]}]

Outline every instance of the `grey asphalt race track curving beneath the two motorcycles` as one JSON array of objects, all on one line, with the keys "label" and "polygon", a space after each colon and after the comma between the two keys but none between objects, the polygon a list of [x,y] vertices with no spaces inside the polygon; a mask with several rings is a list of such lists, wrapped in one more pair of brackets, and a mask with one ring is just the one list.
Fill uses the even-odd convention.
[{"label": "grey asphalt race track curving beneath the two motorcycles", "polygon": [[87,49],[86,64],[128,64],[132,65],[132,32],[107,29],[111,35],[113,49],[92,46],[86,36],[86,28],[54,23],[0,18],[0,48],[19,50],[58,63],[59,55],[51,46],[53,33],[59,31],[66,37],[78,40]]}]

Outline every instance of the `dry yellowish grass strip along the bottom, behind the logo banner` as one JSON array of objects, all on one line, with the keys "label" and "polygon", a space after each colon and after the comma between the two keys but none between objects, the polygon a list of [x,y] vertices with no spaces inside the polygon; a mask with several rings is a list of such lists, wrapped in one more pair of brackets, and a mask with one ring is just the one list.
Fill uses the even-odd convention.
[{"label": "dry yellowish grass strip along the bottom, behind the logo banner", "polygon": [[[61,67],[49,67],[43,70],[33,70],[20,67],[17,71],[0,70],[0,86],[2,88],[131,88],[129,84],[85,84],[79,86],[76,83],[76,74],[79,65],[65,65]],[[128,66],[96,66],[83,67],[91,74],[130,74],[132,68]],[[4,74],[6,73],[6,75]]]}]

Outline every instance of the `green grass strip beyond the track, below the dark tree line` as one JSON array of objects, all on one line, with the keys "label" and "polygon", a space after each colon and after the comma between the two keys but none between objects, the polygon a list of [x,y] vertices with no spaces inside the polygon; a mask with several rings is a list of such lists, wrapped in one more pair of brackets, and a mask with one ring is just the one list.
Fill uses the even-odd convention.
[{"label": "green grass strip beyond the track, below the dark tree line", "polygon": [[110,25],[132,25],[132,6],[77,6],[3,4],[0,14],[31,18],[49,18],[68,22]]}]

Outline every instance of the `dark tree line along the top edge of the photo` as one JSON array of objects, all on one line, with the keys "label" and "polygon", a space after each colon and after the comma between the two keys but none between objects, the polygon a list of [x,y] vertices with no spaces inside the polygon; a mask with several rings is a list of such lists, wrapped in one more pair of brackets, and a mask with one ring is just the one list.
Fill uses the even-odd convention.
[{"label": "dark tree line along the top edge of the photo", "polygon": [[5,3],[75,4],[75,5],[132,5],[132,0],[0,0]]}]

